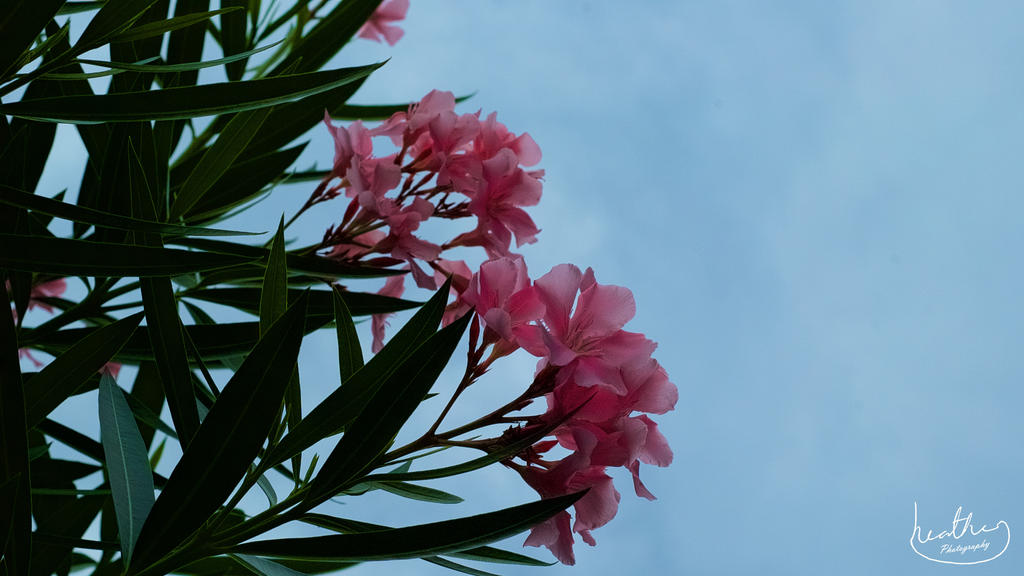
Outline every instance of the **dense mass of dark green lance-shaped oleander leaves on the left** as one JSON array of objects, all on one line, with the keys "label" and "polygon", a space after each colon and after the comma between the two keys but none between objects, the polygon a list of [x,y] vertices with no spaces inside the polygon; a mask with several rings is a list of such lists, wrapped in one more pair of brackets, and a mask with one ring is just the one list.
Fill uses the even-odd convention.
[{"label": "dense mass of dark green lance-shaped oleander leaves on the left", "polygon": [[[423,558],[488,574],[439,554],[543,564],[485,544],[579,495],[394,529],[310,512],[370,490],[461,501],[408,482],[444,476],[417,476],[409,462],[455,435],[431,429],[403,448],[392,444],[434,394],[472,314],[438,328],[450,283],[425,303],[345,288],[338,279],[406,271],[290,249],[284,222],[272,238],[219,228],[298,173],[305,142],[296,140],[325,110],[372,120],[408,108],[348,104],[381,64],[329,67],[380,0],[276,10],[259,0],[219,9],[178,0],[173,13],[168,0],[8,4],[0,13],[0,284],[12,314],[0,315],[0,573],[296,576]],[[210,40],[223,57],[203,59]],[[97,48],[110,58],[95,59]],[[200,82],[199,70],[218,68],[225,81]],[[75,124],[89,155],[71,194],[38,186],[57,123]],[[60,222],[71,235],[54,233]],[[80,296],[62,297],[65,287]],[[217,322],[200,304],[258,322]],[[26,324],[40,306],[55,314]],[[365,359],[357,319],[412,308],[404,327]],[[339,385],[303,414],[298,354],[303,337],[322,328],[337,333]],[[38,372],[19,370],[40,352],[53,360]],[[138,366],[130,392],[116,380],[119,364]],[[222,389],[211,369],[231,371]],[[97,398],[98,442],[51,419],[85,394]],[[165,404],[170,423],[161,417]],[[314,455],[303,472],[303,453],[339,434],[319,467]],[[53,442],[88,462],[51,458]],[[168,477],[157,474],[164,445],[174,442],[180,459]],[[513,454],[485,450],[459,470]],[[398,472],[383,471],[401,462]],[[100,470],[98,485],[76,487]],[[271,471],[294,488],[279,495]],[[247,515],[240,501],[253,488],[267,507]],[[87,539],[97,517],[100,539]],[[249,541],[289,522],[343,534]]]}]

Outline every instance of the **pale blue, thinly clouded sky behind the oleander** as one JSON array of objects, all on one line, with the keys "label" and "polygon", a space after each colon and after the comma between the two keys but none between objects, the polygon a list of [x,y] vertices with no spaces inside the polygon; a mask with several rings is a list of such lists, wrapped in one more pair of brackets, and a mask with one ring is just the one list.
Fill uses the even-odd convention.
[{"label": "pale blue, thinly clouded sky behind the oleander", "polygon": [[[926,529],[958,505],[1024,526],[1022,16],[1014,2],[413,0],[397,46],[345,50],[337,64],[391,58],[357,101],[476,91],[462,110],[534,136],[547,178],[531,272],[570,261],[632,288],[630,329],[659,342],[680,388],[659,418],[676,461],[644,470],[656,502],[620,475],[618,517],[597,547],[578,544],[575,568],[481,568],[1024,569],[1019,542],[959,569],[907,545],[915,500]],[[81,147],[60,133],[54,188],[80,174]],[[326,133],[313,142],[303,166],[327,165]],[[280,190],[250,224],[270,228],[306,194]],[[297,232],[315,239],[336,217]],[[334,385],[332,346],[304,344],[310,403]],[[507,363],[456,418],[515,396],[531,366]],[[332,511],[411,524],[534,497],[501,468],[433,485],[467,501]]]}]

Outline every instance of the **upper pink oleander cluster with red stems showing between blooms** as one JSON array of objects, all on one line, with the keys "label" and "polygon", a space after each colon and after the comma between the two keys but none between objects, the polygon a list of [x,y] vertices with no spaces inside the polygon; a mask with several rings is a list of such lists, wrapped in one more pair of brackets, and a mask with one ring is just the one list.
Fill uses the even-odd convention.
[{"label": "upper pink oleander cluster with red stems showing between blooms", "polygon": [[[361,122],[325,123],[334,137],[331,173],[303,206],[342,194],[349,199],[339,224],[327,231],[321,247],[340,260],[371,264],[404,262],[416,284],[435,289],[436,275],[455,273],[463,283],[469,268],[440,257],[457,246],[480,246],[489,257],[509,255],[516,246],[537,241],[540,230],[523,207],[541,200],[541,161],[528,134],[516,135],[494,114],[456,114],[452,92],[431,91],[380,126]],[[374,138],[389,138],[397,153],[374,154]],[[437,245],[418,236],[428,218],[475,218],[473,230]],[[386,231],[386,232],[385,232]],[[432,269],[427,272],[425,269]],[[382,293],[401,295],[401,280]],[[383,344],[385,320],[375,319],[374,349]]]}]

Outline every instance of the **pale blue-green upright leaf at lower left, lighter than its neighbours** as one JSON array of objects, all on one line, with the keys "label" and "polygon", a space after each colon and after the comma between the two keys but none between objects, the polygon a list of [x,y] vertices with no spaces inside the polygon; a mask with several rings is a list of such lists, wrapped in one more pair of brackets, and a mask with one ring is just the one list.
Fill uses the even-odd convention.
[{"label": "pale blue-green upright leaf at lower left, lighter than its neighbours", "polygon": [[153,470],[132,410],[110,373],[99,381],[99,437],[114,495],[121,551],[130,561],[142,523],[153,507]]}]

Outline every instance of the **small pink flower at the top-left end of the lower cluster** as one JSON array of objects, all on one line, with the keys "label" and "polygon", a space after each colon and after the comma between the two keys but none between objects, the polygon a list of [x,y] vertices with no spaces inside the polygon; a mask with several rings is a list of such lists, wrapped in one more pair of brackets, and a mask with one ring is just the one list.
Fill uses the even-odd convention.
[{"label": "small pink flower at the top-left end of the lower cluster", "polygon": [[487,327],[484,343],[497,342],[500,356],[518,348],[515,332],[544,315],[544,303],[530,286],[520,255],[483,262],[462,298],[476,308]]}]

